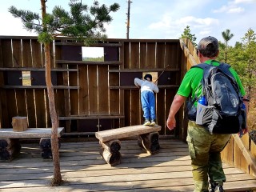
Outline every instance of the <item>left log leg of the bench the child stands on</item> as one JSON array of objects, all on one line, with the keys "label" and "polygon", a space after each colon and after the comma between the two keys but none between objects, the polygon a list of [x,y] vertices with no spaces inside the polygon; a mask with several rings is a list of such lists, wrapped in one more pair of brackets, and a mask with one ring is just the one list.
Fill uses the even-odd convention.
[{"label": "left log leg of the bench the child stands on", "polygon": [[110,142],[100,142],[100,145],[102,146],[100,154],[106,163],[110,166],[120,164],[122,158],[122,155],[119,152],[121,149],[121,142],[118,139]]}]

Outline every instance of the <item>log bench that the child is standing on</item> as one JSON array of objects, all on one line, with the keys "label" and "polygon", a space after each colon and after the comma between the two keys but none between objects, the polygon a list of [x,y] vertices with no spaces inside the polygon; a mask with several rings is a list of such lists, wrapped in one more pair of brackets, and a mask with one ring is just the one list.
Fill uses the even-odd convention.
[{"label": "log bench that the child is standing on", "polygon": [[113,130],[102,130],[95,133],[101,145],[100,154],[102,158],[110,165],[118,165],[121,162],[120,138],[129,138],[138,136],[138,146],[149,154],[157,154],[160,150],[159,134],[161,126],[126,126]]}]

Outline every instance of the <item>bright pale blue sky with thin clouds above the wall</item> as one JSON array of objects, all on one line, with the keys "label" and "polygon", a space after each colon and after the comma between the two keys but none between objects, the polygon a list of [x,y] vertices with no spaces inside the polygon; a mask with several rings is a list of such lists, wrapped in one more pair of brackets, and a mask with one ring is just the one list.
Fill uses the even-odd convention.
[{"label": "bright pale blue sky with thin clouds above the wall", "polygon": [[[21,10],[40,12],[39,0],[0,0],[0,36],[36,35],[26,31],[19,18],[9,12],[10,6]],[[70,0],[47,0],[46,11],[51,13],[54,6],[69,10]],[[92,0],[82,0],[88,6]],[[110,6],[118,2],[120,9],[110,13],[113,21],[106,25],[108,38],[126,38],[128,12],[127,0],[98,0],[100,5]],[[201,38],[214,36],[224,42],[222,31],[230,30],[234,37],[230,46],[242,42],[249,29],[256,32],[256,0],[131,0],[130,38],[135,39],[178,39],[186,26],[198,43]]]}]

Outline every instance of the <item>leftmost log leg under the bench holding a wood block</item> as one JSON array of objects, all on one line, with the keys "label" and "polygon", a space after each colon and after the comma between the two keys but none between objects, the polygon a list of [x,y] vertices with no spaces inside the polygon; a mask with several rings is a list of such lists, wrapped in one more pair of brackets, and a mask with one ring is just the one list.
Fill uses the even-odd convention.
[{"label": "leftmost log leg under the bench holding a wood block", "polygon": [[18,138],[0,138],[0,159],[11,161],[21,148]]}]

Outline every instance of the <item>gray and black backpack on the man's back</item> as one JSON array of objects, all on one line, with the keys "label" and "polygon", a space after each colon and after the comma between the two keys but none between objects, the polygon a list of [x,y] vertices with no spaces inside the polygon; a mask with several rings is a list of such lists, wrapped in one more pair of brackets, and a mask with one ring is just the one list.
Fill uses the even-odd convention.
[{"label": "gray and black backpack on the man's back", "polygon": [[198,103],[196,123],[205,126],[211,134],[236,134],[246,128],[246,111],[238,83],[230,73],[230,65],[219,66],[201,63],[196,66],[204,70],[202,95],[207,106]]}]

